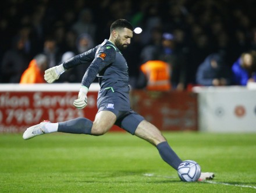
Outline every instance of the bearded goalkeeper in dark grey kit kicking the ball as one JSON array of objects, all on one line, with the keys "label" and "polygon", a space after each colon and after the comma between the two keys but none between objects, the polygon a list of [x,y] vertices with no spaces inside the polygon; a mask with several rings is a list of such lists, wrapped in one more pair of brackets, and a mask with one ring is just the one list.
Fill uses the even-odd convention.
[{"label": "bearded goalkeeper in dark grey kit kicking the ball", "polygon": [[[156,146],[162,159],[177,170],[182,160],[170,148],[165,137],[157,127],[144,120],[144,117],[130,108],[128,66],[120,51],[130,44],[133,27],[127,20],[118,19],[112,23],[110,33],[109,40],[105,40],[87,52],[74,56],[59,66],[46,70],[44,75],[48,83],[53,83],[65,70],[90,62],[91,64],[81,81],[78,98],[74,100],[73,105],[77,109],[86,107],[88,88],[98,76],[101,89],[98,92],[98,112],[95,120],[79,117],[59,123],[43,121],[27,128],[23,138],[28,140],[36,135],[57,131],[103,135],[115,124]],[[206,174],[201,176],[201,180],[213,177],[212,173]]]}]

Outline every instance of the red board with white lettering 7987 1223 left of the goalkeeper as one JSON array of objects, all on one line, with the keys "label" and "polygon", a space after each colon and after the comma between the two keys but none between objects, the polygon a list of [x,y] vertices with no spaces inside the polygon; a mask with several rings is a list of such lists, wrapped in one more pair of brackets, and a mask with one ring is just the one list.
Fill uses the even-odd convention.
[{"label": "red board with white lettering 7987 1223 left of the goalkeeper", "polygon": [[86,109],[74,108],[77,92],[0,92],[0,132],[18,133],[42,120],[59,122],[97,113],[97,92],[88,94]]}]

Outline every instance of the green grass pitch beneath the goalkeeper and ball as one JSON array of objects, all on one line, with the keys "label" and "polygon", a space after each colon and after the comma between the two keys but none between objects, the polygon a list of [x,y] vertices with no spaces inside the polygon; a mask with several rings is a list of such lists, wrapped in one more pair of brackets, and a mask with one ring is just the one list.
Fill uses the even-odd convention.
[{"label": "green grass pitch beneath the goalkeeper and ball", "polygon": [[128,133],[0,135],[0,192],[256,192],[256,134],[163,133],[215,180],[184,183]]}]

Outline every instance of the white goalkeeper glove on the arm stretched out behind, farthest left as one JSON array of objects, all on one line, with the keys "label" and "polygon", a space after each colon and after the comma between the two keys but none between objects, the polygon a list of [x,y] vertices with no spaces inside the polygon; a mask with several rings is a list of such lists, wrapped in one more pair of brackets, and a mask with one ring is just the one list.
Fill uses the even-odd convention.
[{"label": "white goalkeeper glove on the arm stretched out behind, farthest left", "polygon": [[44,72],[44,80],[47,83],[53,83],[55,80],[59,79],[59,76],[65,72],[63,65],[51,67]]}]

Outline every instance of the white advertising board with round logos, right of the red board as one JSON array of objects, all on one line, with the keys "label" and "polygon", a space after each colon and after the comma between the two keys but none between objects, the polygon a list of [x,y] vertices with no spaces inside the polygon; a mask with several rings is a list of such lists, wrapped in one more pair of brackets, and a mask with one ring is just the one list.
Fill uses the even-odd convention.
[{"label": "white advertising board with round logos, right of the red board", "polygon": [[256,132],[256,90],[246,87],[195,87],[200,131]]}]

